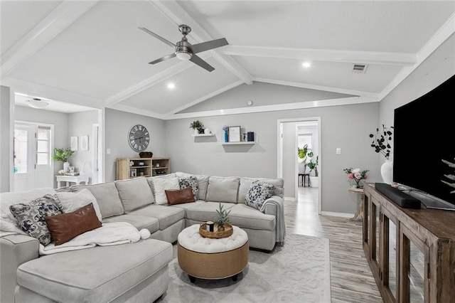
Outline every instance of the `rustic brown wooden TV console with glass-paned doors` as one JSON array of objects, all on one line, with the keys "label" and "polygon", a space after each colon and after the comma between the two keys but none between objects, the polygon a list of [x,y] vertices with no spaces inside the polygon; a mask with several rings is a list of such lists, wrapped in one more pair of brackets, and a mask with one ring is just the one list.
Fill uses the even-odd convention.
[{"label": "rustic brown wooden TV console with glass-paned doors", "polygon": [[454,302],[455,212],[364,192],[363,250],[384,302]]}]

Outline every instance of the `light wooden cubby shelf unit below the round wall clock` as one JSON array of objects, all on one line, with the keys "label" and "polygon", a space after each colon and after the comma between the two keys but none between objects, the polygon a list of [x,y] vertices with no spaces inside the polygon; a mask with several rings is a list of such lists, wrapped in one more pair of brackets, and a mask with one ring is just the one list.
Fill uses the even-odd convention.
[{"label": "light wooden cubby shelf unit below the round wall clock", "polygon": [[[139,176],[156,176],[171,172],[169,158],[120,158],[117,159],[116,180],[133,179]],[[141,165],[142,164],[142,165]],[[159,164],[159,167],[156,165]]]}]

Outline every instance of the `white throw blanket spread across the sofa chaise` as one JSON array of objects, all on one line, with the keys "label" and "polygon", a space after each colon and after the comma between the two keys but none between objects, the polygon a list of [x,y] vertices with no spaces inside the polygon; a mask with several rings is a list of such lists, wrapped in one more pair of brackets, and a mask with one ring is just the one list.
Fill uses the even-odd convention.
[{"label": "white throw blanket spread across the sofa chaise", "polygon": [[96,245],[108,246],[124,243],[134,243],[150,237],[149,230],[137,230],[132,224],[127,222],[103,223],[102,227],[87,231],[77,237],[55,246],[55,243],[42,245],[40,243],[40,255],[50,255],[56,252],[66,252],[70,250],[82,250],[93,248]]}]

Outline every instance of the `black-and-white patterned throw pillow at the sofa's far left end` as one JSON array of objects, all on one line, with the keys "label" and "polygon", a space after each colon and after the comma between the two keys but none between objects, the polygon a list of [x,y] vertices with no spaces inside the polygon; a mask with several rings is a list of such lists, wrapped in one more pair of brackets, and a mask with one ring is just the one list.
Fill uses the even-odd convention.
[{"label": "black-and-white patterned throw pillow at the sofa's far left end", "polygon": [[45,195],[30,203],[14,204],[9,206],[9,210],[16,218],[19,227],[28,235],[37,238],[44,246],[53,241],[44,217],[62,213],[57,196]]}]

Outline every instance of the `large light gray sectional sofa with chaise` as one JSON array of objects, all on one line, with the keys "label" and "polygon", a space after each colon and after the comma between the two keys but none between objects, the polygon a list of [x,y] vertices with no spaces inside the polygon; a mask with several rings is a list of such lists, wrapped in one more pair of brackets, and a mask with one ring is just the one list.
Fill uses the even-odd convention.
[{"label": "large light gray sectional sofa with chaise", "polygon": [[[197,200],[167,205],[166,184],[191,179]],[[245,204],[253,181],[273,185],[262,209]],[[179,183],[178,183],[179,184]],[[36,238],[11,232],[6,208],[43,193],[79,193],[87,188],[96,198],[102,223],[127,222],[146,229],[150,238],[136,243],[95,246],[84,250],[40,255]],[[196,191],[194,191],[196,189]],[[285,236],[283,180],[192,175],[140,177],[103,184],[38,189],[28,193],[1,193],[0,302],[154,302],[168,287],[172,244],[189,225],[215,220],[221,203],[230,211],[230,223],[247,232],[250,248],[273,250]],[[7,231],[5,233],[5,230]]]}]

